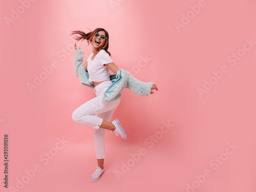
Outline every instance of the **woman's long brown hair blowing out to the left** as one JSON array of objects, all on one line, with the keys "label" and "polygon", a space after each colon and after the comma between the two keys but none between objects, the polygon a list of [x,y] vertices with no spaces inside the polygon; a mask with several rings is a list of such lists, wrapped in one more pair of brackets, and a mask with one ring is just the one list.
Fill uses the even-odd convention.
[{"label": "woman's long brown hair blowing out to the left", "polygon": [[89,33],[84,33],[83,31],[71,31],[71,32],[73,32],[73,33],[71,33],[71,35],[74,35],[74,34],[80,35],[80,37],[76,36],[76,38],[74,37],[74,39],[76,39],[78,41],[81,40],[81,39],[82,40],[86,39],[87,42],[88,42],[88,45],[89,45],[92,42],[92,40],[93,40],[94,34],[99,32],[99,31],[104,31],[105,32],[106,39],[105,39],[104,45],[99,47],[97,51],[105,50],[106,53],[108,53],[111,56],[110,52],[108,51],[108,49],[109,49],[109,33],[106,30],[104,30],[103,28],[97,28],[94,31],[91,31]]}]

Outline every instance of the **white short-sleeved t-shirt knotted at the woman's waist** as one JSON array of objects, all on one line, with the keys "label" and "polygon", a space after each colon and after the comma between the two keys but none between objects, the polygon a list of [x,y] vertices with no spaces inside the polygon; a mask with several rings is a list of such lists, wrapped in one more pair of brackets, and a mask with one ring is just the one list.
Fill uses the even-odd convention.
[{"label": "white short-sleeved t-shirt knotted at the woman's waist", "polygon": [[112,59],[105,50],[100,50],[92,60],[93,53],[87,59],[87,71],[89,73],[89,82],[110,80],[110,69],[104,64],[112,63]]}]

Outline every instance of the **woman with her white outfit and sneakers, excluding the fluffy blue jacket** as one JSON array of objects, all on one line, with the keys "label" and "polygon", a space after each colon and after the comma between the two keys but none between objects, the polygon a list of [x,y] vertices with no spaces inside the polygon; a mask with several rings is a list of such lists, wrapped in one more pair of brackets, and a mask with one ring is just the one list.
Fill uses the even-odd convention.
[{"label": "woman with her white outfit and sneakers, excluding the fluffy blue jacket", "polygon": [[[121,98],[119,97],[113,101],[105,103],[101,101],[105,90],[112,84],[112,81],[110,80],[110,70],[116,75],[119,68],[110,57],[111,54],[108,51],[109,33],[106,30],[103,28],[97,28],[89,33],[73,31],[71,35],[73,34],[80,35],[80,37],[76,36],[74,39],[86,39],[88,45],[91,43],[93,46],[93,53],[89,56],[87,61],[83,63],[83,68],[90,75],[89,82],[93,83],[97,97],[78,107],[73,112],[72,119],[78,124],[94,128],[94,145],[98,166],[96,166],[97,169],[91,176],[91,181],[97,181],[101,174],[104,173],[105,131],[110,130],[115,132],[116,135],[120,135],[123,139],[126,138],[125,132],[118,119],[110,122]],[[77,49],[76,43],[74,44],[74,47],[75,50],[80,50],[80,48]],[[155,84],[153,84],[151,89],[158,90]],[[154,92],[151,91],[151,93]]]}]

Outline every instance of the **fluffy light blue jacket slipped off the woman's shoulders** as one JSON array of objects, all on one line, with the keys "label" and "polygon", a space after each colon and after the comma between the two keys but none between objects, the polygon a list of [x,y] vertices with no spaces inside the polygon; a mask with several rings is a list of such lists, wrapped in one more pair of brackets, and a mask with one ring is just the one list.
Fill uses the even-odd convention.
[{"label": "fluffy light blue jacket slipped off the woman's shoulders", "polygon": [[[75,50],[75,75],[79,77],[81,84],[94,88],[93,83],[90,83],[88,80],[90,78],[89,73],[83,68],[83,56],[83,50]],[[145,83],[139,81],[130,75],[128,71],[120,68],[116,75],[110,75],[110,80],[112,81],[112,85],[106,89],[102,102],[108,102],[122,97],[121,91],[124,88],[129,88],[135,94],[144,97],[150,95],[151,88],[153,87],[153,82]]]}]

